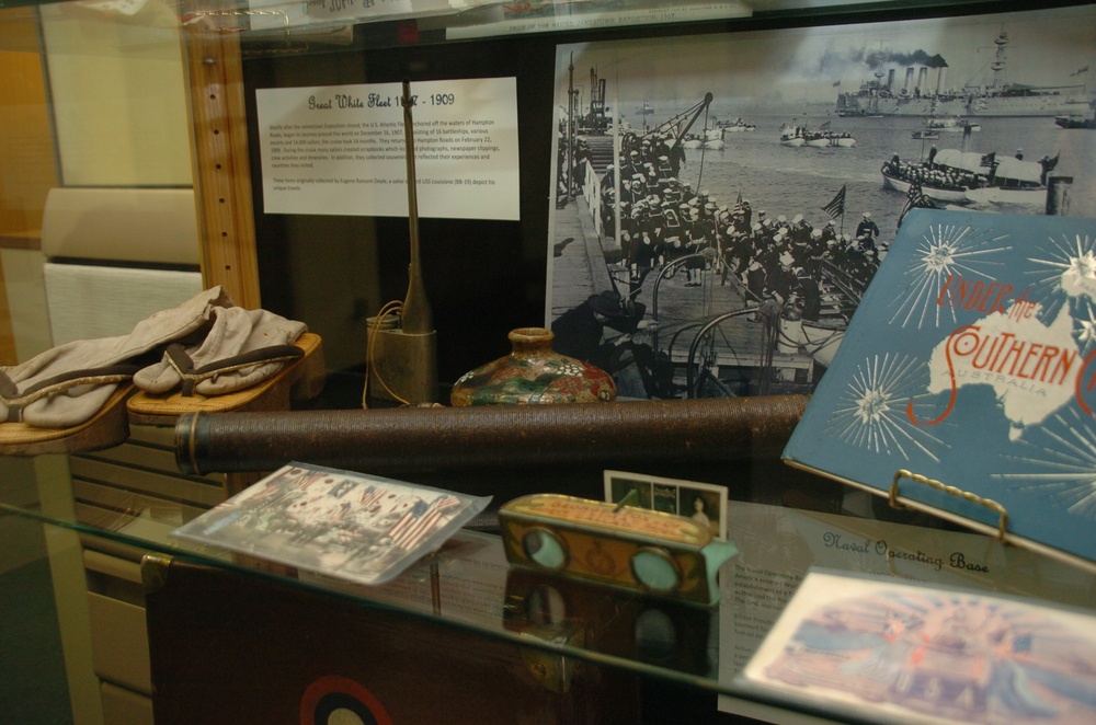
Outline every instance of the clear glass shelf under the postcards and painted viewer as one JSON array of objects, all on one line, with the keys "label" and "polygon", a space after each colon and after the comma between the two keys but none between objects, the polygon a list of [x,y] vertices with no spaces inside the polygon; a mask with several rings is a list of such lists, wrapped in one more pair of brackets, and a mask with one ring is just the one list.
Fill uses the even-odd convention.
[{"label": "clear glass shelf under the postcards and painted viewer", "polygon": [[[47,487],[54,488],[48,496],[58,495],[55,484]],[[738,703],[731,709],[739,712],[777,704],[743,690],[734,674],[760,646],[812,566],[910,576],[1072,607],[1091,608],[1096,602],[1096,577],[1088,573],[1002,546],[992,538],[879,507],[882,499],[852,492],[841,495],[831,513],[792,508],[787,500],[732,500],[730,538],[740,554],[721,569],[721,599],[713,607],[511,566],[501,540],[491,531],[496,522],[493,513],[481,516],[472,528],[454,536],[392,583],[367,587],[175,540],[171,531],[193,511],[163,500],[142,503],[134,493],[113,520],[92,526],[78,520],[75,510],[60,513],[66,507],[64,492],[60,497],[60,502],[43,500],[44,508],[54,509],[53,515],[13,500],[0,503],[0,511],[41,522],[47,531],[73,532],[85,549],[128,551],[130,559],[135,552],[157,553],[261,577],[322,595],[318,607],[324,598],[334,597],[361,607],[363,617],[378,608],[395,611],[473,637],[624,669],[652,682],[729,695],[730,702]],[[785,492],[785,498],[794,495]],[[991,573],[956,569],[947,556],[957,551]],[[582,636],[576,636],[580,632]]]}]

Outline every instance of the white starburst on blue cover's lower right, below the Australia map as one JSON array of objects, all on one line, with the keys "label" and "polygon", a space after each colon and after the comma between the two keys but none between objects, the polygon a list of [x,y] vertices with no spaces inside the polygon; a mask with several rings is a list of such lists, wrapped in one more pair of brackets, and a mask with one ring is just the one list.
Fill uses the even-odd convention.
[{"label": "white starburst on blue cover's lower right, below the Australia map", "polygon": [[1076,406],[1054,414],[1008,453],[1007,473],[994,479],[1009,490],[1037,493],[1061,511],[1096,520],[1096,419]]}]

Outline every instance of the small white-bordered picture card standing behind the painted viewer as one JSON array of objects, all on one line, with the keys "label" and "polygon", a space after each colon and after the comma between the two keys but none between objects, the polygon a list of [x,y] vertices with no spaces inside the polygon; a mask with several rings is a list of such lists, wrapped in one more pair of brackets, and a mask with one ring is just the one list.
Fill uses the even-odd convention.
[{"label": "small white-bordered picture card standing behind the painted viewer", "polygon": [[626,471],[605,471],[604,476],[605,500],[610,504],[684,516],[715,538],[727,540],[728,492],[724,486]]}]

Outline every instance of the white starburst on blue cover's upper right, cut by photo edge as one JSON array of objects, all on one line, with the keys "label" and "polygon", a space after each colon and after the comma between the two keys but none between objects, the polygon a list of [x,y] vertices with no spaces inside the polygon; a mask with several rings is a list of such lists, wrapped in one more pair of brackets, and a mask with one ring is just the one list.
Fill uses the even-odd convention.
[{"label": "white starburst on blue cover's upper right, cut by photo edge", "polygon": [[1087,354],[1096,344],[1096,238],[1050,237],[1038,251],[1040,256],[1028,257],[1035,266],[1028,271],[1032,298],[1040,300],[1047,320],[1058,317],[1063,304],[1070,306],[1074,337]]}]

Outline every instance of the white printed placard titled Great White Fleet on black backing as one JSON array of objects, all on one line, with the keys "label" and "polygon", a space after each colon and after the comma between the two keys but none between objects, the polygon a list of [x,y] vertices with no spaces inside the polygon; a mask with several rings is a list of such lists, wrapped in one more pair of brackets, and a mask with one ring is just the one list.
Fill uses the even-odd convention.
[{"label": "white printed placard titled Great White Fleet on black backing", "polygon": [[[420,217],[520,218],[515,78],[410,85]],[[400,83],[255,91],[266,214],[408,216]]]}]

